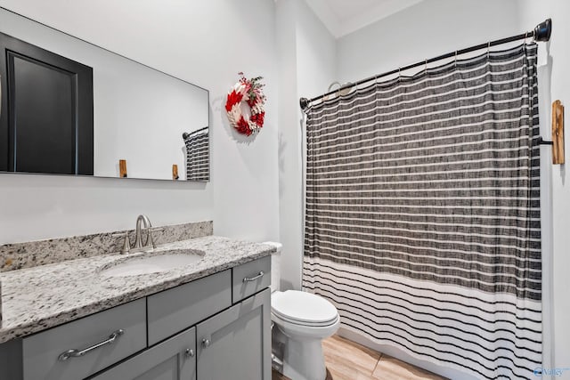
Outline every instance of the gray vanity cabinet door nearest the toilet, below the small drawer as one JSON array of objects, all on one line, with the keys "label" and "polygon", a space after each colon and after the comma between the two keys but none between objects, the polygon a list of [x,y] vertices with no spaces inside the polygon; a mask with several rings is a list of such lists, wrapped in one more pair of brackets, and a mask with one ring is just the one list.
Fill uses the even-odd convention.
[{"label": "gray vanity cabinet door nearest the toilet, below the small drawer", "polygon": [[270,308],[266,288],[196,327],[199,380],[271,379]]}]

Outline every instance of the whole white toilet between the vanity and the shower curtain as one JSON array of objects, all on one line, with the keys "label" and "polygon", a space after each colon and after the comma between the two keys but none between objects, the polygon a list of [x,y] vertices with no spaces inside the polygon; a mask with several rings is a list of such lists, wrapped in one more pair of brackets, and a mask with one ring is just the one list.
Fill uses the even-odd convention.
[{"label": "whole white toilet between the vanity and the shower curtain", "polygon": [[281,244],[272,256],[271,319],[273,368],[295,380],[325,380],[322,339],[340,325],[337,308],[320,295],[280,288]]}]

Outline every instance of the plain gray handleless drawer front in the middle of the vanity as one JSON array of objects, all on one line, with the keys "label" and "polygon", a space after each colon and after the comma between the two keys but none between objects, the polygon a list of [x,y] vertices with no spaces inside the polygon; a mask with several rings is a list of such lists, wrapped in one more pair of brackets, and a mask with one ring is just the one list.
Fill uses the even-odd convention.
[{"label": "plain gray handleless drawer front in the middle of the vanity", "polygon": [[231,287],[227,270],[147,297],[149,346],[231,306]]}]

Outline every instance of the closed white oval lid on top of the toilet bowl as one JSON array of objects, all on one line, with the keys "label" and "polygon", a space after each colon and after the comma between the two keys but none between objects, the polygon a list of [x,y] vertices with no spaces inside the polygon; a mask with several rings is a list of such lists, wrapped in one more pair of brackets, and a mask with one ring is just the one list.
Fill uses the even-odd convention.
[{"label": "closed white oval lid on top of the toilet bowl", "polygon": [[271,309],[282,319],[307,325],[326,324],[338,318],[332,303],[319,295],[297,290],[273,293]]}]

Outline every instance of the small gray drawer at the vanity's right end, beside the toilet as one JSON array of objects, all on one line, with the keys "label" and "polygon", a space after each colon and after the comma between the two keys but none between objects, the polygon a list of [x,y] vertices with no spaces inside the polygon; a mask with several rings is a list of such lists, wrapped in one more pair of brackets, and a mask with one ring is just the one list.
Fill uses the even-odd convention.
[{"label": "small gray drawer at the vanity's right end, beside the toilet", "polygon": [[232,301],[239,303],[271,285],[271,255],[241,264],[232,271]]}]

